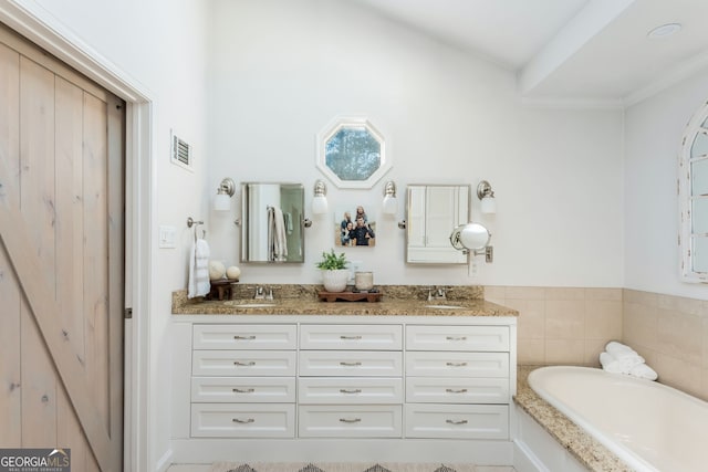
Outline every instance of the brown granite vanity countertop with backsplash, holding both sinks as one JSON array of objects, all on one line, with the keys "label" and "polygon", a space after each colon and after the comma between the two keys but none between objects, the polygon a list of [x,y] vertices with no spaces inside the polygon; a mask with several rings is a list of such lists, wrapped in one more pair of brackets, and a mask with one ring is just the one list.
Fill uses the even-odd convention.
[{"label": "brown granite vanity countertop with backsplash, holding both sinks", "polygon": [[[254,300],[253,286],[235,286],[232,300],[187,298],[173,292],[174,315],[330,315],[330,316],[518,316],[516,310],[483,300],[481,286],[452,286],[446,300],[427,301],[427,287],[383,285],[378,302],[324,302],[317,285],[266,285],[273,301]],[[262,304],[267,306],[254,306]],[[428,305],[428,306],[426,306]],[[429,305],[456,306],[455,308]]]}]

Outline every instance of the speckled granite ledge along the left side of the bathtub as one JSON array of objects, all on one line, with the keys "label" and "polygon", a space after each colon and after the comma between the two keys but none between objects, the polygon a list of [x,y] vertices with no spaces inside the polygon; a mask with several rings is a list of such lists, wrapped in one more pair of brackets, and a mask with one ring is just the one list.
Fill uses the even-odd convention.
[{"label": "speckled granite ledge along the left side of the bathtub", "polygon": [[529,387],[529,373],[541,366],[519,366],[517,370],[517,395],[514,402],[531,416],[575,459],[593,472],[632,472],[604,445],[585,433],[577,424],[541,399]]}]

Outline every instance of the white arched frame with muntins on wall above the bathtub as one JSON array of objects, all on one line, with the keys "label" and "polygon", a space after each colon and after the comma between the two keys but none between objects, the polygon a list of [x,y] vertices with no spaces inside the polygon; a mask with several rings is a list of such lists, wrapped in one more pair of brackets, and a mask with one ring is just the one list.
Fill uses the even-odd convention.
[{"label": "white arched frame with muntins on wall above the bathtub", "polygon": [[[705,233],[695,233],[697,221],[700,227],[708,224],[708,216],[693,211],[694,201],[708,200],[707,195],[694,195],[694,166],[693,164],[708,160],[706,155],[693,157],[694,143],[699,135],[708,136],[708,105],[704,105],[696,112],[686,126],[680,140],[678,161],[678,204],[680,210],[680,229],[678,234],[678,248],[680,251],[681,277],[685,282],[708,283],[708,272],[696,270],[696,238],[707,238]],[[702,176],[708,178],[708,176]],[[704,254],[708,258],[708,254]],[[701,262],[704,266],[708,261]]]}]

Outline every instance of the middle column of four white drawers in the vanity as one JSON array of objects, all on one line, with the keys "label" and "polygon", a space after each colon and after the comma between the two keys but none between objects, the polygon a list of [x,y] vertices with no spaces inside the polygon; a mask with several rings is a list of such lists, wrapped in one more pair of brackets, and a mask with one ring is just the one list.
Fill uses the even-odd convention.
[{"label": "middle column of four white drawers in the vanity", "polygon": [[400,438],[403,326],[300,326],[301,438]]}]

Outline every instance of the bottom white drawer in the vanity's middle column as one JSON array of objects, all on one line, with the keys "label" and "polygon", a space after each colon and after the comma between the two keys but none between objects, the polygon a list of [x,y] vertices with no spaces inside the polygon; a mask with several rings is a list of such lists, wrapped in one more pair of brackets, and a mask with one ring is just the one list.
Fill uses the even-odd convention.
[{"label": "bottom white drawer in the vanity's middle column", "polygon": [[400,438],[399,405],[301,406],[301,438]]}]

